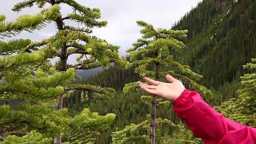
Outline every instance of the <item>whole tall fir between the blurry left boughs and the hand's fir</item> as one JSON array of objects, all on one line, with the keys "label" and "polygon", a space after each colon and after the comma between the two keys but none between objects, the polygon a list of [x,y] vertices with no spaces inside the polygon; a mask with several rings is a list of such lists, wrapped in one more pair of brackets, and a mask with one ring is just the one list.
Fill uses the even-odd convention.
[{"label": "whole tall fir between the blurry left boughs and the hand's fir", "polygon": [[[50,62],[45,61],[41,63],[44,68],[55,67],[57,71],[66,71],[68,68],[75,68],[76,70],[88,70],[99,66],[106,67],[111,63],[118,64],[122,68],[128,68],[129,64],[124,60],[122,56],[119,56],[118,49],[120,46],[114,46],[108,44],[106,40],[97,38],[96,36],[90,36],[93,28],[104,27],[107,21],[99,21],[101,17],[100,10],[98,8],[88,8],[78,4],[75,0],[25,0],[14,5],[12,8],[15,12],[20,12],[23,8],[37,5],[42,9],[42,12],[48,8],[43,8],[46,4],[67,4],[72,7],[74,12],[62,16],[59,8],[59,16],[56,20],[53,20],[58,29],[57,33],[50,38],[44,39],[41,42],[33,42],[26,52],[32,52],[33,50],[42,50],[45,52],[45,59],[56,58],[59,59],[52,65]],[[64,21],[71,20],[81,24],[81,27],[66,25]],[[76,64],[68,64],[68,57],[72,54],[80,54],[76,58]],[[90,58],[87,58],[89,55]],[[75,76],[81,79],[80,76]],[[53,107],[56,110],[63,108],[63,98],[69,98],[72,94],[78,90],[82,91],[82,100],[88,99],[88,93],[92,97],[100,100],[108,101],[116,92],[113,88],[102,88],[100,86],[93,86],[90,84],[70,84],[65,88],[64,93],[60,96],[59,101]],[[82,131],[82,130],[81,130]],[[65,135],[69,135],[68,131]],[[71,138],[80,137],[83,139],[85,136],[97,136],[95,132],[84,130],[84,132],[73,132]],[[60,144],[61,137],[54,139],[54,144]]]}]

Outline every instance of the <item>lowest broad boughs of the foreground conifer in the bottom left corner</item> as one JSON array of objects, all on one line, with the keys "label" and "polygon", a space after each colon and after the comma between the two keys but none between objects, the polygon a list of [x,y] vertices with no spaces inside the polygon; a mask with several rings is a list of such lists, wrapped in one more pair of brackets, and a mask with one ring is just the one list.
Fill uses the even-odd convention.
[{"label": "lowest broad boughs of the foreground conifer in the bottom left corner", "polygon": [[[50,138],[62,136],[67,132],[72,134],[70,136],[73,141],[72,144],[77,142],[90,143],[90,141],[95,140],[92,136],[98,133],[96,130],[108,128],[115,118],[115,114],[99,116],[98,113],[92,113],[89,109],[84,109],[78,116],[70,118],[66,108],[56,111],[50,110],[47,106],[30,106],[27,104],[20,105],[19,111],[9,110],[9,108],[8,106],[0,107],[1,114],[4,113],[0,117],[1,124],[26,125],[26,130],[32,131],[22,138],[7,136],[7,141],[4,141],[3,144],[33,142],[36,139],[40,139],[38,142],[44,142],[44,138],[49,138],[46,139],[48,142]],[[88,132],[85,133],[84,129]],[[34,134],[34,132],[37,133]],[[33,136],[38,136],[33,138],[30,136],[31,133],[34,134]]]}]

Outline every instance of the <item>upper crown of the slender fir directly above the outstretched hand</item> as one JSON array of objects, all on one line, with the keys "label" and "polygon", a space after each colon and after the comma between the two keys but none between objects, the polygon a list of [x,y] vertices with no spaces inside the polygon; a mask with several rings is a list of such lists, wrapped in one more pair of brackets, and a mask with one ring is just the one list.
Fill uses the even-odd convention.
[{"label": "upper crown of the slender fir directly above the outstretched hand", "polygon": [[[202,76],[192,72],[190,66],[176,62],[171,54],[172,50],[182,50],[185,47],[185,44],[179,40],[186,38],[188,30],[155,29],[152,24],[147,24],[143,21],[137,21],[137,24],[143,27],[140,30],[142,38],[139,38],[137,42],[132,44],[133,48],[126,50],[126,52],[131,54],[130,61],[133,66],[137,66],[135,68],[136,73],[139,73],[142,77],[147,76],[158,80],[166,76],[166,74],[170,74],[174,78],[186,82],[190,88],[198,90],[203,96],[209,98],[213,96],[210,90],[196,82],[196,80],[202,79]],[[152,64],[162,66],[159,68],[158,74],[154,71],[155,69],[147,69]],[[180,74],[178,74],[178,71]],[[138,88],[136,83],[127,84],[124,92],[129,92],[134,90],[134,88]]]}]

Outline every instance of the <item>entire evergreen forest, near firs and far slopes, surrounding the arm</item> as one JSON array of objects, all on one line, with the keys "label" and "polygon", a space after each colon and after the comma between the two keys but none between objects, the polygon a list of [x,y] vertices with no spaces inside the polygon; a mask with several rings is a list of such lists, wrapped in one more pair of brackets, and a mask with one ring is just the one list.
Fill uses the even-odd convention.
[{"label": "entire evergreen forest, near firs and far slopes, surrounding the arm", "polygon": [[[74,12],[62,15],[60,4]],[[41,11],[12,22],[0,15],[0,144],[203,144],[172,102],[136,85],[145,76],[166,82],[166,74],[225,117],[256,128],[254,0],[202,0],[169,28],[138,20],[142,37],[126,56],[91,34],[108,26],[100,9],[75,0],[23,0],[12,10],[31,6]],[[4,40],[50,22],[57,32],[47,39]],[[72,54],[79,55],[76,64],[67,62]],[[154,121],[168,126],[156,124],[152,138]]]}]

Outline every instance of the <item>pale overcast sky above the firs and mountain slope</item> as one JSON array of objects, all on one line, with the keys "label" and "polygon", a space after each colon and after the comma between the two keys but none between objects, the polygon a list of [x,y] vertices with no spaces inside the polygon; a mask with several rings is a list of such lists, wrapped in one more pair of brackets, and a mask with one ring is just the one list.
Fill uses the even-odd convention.
[{"label": "pale overcast sky above the firs and mountain slope", "polygon": [[[11,10],[12,6],[23,0],[4,0],[0,5],[0,14],[6,16],[6,20],[14,20],[21,14],[35,14],[39,9],[34,6],[22,10],[18,15]],[[140,27],[136,20],[144,20],[154,27],[171,28],[192,7],[201,0],[76,0],[78,3],[90,8],[100,8],[102,20],[107,20],[105,28],[94,29],[93,35],[107,40],[111,44],[121,46],[120,54],[140,38]],[[62,14],[72,12],[67,5],[62,6]],[[74,24],[74,23],[67,23]],[[22,32],[13,38],[29,38],[32,41],[41,41],[56,32],[54,24],[33,33]],[[7,40],[7,39],[6,39]],[[76,56],[70,56],[68,62],[74,63]]]}]

